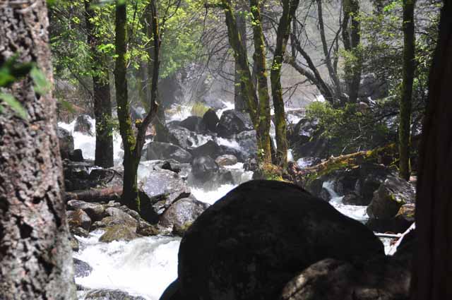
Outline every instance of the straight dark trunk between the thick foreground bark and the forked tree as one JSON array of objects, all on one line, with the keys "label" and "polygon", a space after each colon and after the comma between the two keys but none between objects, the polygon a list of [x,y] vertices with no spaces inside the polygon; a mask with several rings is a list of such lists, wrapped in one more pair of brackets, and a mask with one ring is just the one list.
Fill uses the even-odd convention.
[{"label": "straight dark trunk between the thick foreground bark and the forked tree", "polygon": [[85,0],[86,29],[88,31],[88,44],[91,49],[93,61],[93,97],[94,115],[96,119],[96,149],[95,165],[99,167],[113,167],[113,134],[112,126],[112,102],[110,100],[110,85],[108,69],[105,58],[97,51],[97,46],[102,42],[97,36],[95,24],[91,21],[95,18],[95,8],[91,6],[91,0]]}]

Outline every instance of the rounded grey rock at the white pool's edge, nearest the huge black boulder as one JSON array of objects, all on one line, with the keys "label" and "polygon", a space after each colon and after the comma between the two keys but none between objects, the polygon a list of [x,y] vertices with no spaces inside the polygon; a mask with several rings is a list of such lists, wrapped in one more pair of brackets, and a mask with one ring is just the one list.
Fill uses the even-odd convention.
[{"label": "rounded grey rock at the white pool's edge, nearest the huge black boulder", "polygon": [[182,236],[208,206],[194,198],[177,200],[160,216],[159,223],[165,227],[172,226],[174,234]]}]

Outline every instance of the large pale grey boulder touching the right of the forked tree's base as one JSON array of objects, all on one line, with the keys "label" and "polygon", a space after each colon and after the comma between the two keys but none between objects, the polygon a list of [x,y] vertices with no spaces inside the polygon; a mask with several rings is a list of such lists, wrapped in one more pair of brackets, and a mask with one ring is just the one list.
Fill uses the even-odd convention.
[{"label": "large pale grey boulder touching the right of the forked tree's base", "polygon": [[190,188],[174,172],[156,169],[143,181],[141,186],[141,216],[155,224],[158,216],[175,201],[190,195]]}]

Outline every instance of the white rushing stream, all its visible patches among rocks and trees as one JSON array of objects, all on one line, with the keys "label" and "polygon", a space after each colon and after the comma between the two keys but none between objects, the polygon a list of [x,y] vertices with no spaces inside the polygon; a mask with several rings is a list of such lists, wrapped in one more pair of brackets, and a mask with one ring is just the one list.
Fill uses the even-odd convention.
[{"label": "white rushing stream, all its visible patches among rocks and trees", "polygon": [[[226,109],[230,109],[230,104]],[[220,110],[219,114],[224,110]],[[190,115],[188,107],[182,107],[177,114],[172,115],[168,121],[182,120]],[[297,117],[292,116],[295,122]],[[95,121],[90,120],[95,128]],[[95,136],[88,136],[83,133],[74,132],[75,121],[70,124],[59,123],[59,126],[65,128],[74,138],[74,146],[83,151],[83,157],[88,160],[94,160],[95,154]],[[274,138],[274,130],[271,132]],[[206,143],[210,136],[198,135],[198,143]],[[233,148],[239,148],[235,140],[226,138],[217,138],[220,145],[228,145]],[[289,157],[292,158],[292,152],[289,151]],[[114,133],[114,162],[120,164],[123,156],[121,150],[121,138],[119,134]],[[146,164],[141,164],[138,168],[138,179],[145,178],[148,170]],[[200,188],[190,186],[191,193],[196,199],[213,204],[218,199],[235,188],[238,184],[251,180],[252,172],[245,172],[243,163],[237,163],[226,167],[230,169],[234,176],[233,184],[223,184],[220,186],[211,186],[210,188]],[[365,206],[345,205],[342,203],[342,196],[333,191],[331,182],[324,182],[323,188],[326,188],[331,195],[331,205],[344,215],[352,217],[359,222],[366,222],[368,216]],[[87,277],[76,277],[76,284],[80,284],[88,289],[120,289],[128,292],[132,296],[141,296],[147,300],[158,300],[165,288],[177,278],[177,252],[181,239],[177,236],[148,236],[133,241],[113,241],[111,243],[102,243],[98,241],[103,234],[102,230],[91,232],[87,238],[77,236],[80,242],[80,250],[73,253],[74,258],[88,263],[93,271]],[[391,239],[382,239],[385,244],[385,251],[388,253],[391,246]],[[79,299],[84,299],[83,292],[78,292]]]}]

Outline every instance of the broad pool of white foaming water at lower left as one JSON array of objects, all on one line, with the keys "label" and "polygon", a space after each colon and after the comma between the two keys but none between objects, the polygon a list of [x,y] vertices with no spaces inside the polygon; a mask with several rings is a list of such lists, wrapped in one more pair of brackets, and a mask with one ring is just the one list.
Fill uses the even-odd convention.
[{"label": "broad pool of white foaming water at lower left", "polygon": [[98,241],[102,231],[88,238],[78,237],[83,248],[74,257],[88,263],[93,271],[77,277],[76,283],[90,289],[120,289],[131,295],[157,300],[177,278],[180,238],[150,236],[133,241]]}]

